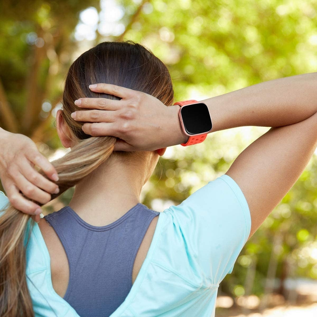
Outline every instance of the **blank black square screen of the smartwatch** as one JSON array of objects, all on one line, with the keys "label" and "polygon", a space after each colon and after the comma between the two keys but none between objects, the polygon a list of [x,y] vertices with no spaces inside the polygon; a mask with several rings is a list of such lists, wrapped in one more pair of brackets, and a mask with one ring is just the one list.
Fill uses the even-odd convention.
[{"label": "blank black square screen of the smartwatch", "polygon": [[180,108],[184,128],[188,134],[207,133],[212,124],[209,110],[204,103],[195,103]]}]

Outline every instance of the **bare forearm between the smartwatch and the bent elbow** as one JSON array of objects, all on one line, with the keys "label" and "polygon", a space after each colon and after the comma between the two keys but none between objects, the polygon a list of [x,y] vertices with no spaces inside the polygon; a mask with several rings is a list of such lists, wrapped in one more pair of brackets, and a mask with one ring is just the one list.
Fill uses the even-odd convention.
[{"label": "bare forearm between the smartwatch and the bent elbow", "polygon": [[237,126],[286,126],[317,112],[317,73],[266,81],[204,102],[212,132]]}]

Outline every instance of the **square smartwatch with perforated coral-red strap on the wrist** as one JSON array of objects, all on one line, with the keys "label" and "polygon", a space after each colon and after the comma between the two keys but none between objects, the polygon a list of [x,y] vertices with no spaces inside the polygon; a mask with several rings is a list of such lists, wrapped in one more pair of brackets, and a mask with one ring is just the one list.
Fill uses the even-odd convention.
[{"label": "square smartwatch with perforated coral-red strap on the wrist", "polygon": [[207,134],[212,130],[209,109],[204,102],[197,100],[185,100],[175,102],[180,106],[178,115],[181,126],[189,139],[182,146],[201,143],[206,139]]}]

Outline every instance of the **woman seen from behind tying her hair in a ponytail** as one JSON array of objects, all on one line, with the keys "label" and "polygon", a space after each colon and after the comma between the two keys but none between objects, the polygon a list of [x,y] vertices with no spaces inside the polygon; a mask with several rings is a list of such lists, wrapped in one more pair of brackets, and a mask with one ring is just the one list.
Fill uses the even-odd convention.
[{"label": "woman seen from behind tying her hair in a ponytail", "polygon": [[[10,206],[0,217],[2,315],[214,315],[219,283],[316,148],[316,83],[315,73],[297,75],[203,100],[213,132],[272,128],[224,175],[157,213],[139,203],[142,186],[166,146],[188,139],[170,75],[133,42],[104,42],[82,54],[69,69],[56,117],[61,142],[71,147],[53,162],[59,193],[50,197],[52,183],[38,174],[27,179],[22,167],[7,176],[12,154],[1,158],[2,178],[34,204],[28,214]],[[1,148],[12,139],[2,131]],[[53,168],[44,172],[53,178]],[[38,224],[30,219],[36,202],[75,184],[68,206]],[[24,206],[17,193],[10,199]]]}]

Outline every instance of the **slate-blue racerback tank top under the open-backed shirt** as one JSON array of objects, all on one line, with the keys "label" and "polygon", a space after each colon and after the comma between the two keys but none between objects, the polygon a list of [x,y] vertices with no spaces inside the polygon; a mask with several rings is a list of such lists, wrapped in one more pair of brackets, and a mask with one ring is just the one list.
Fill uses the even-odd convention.
[{"label": "slate-blue racerback tank top under the open-backed shirt", "polygon": [[63,297],[81,317],[110,316],[132,287],[136,254],[159,212],[138,203],[115,222],[96,227],[69,206],[44,218],[65,249],[69,282]]}]

